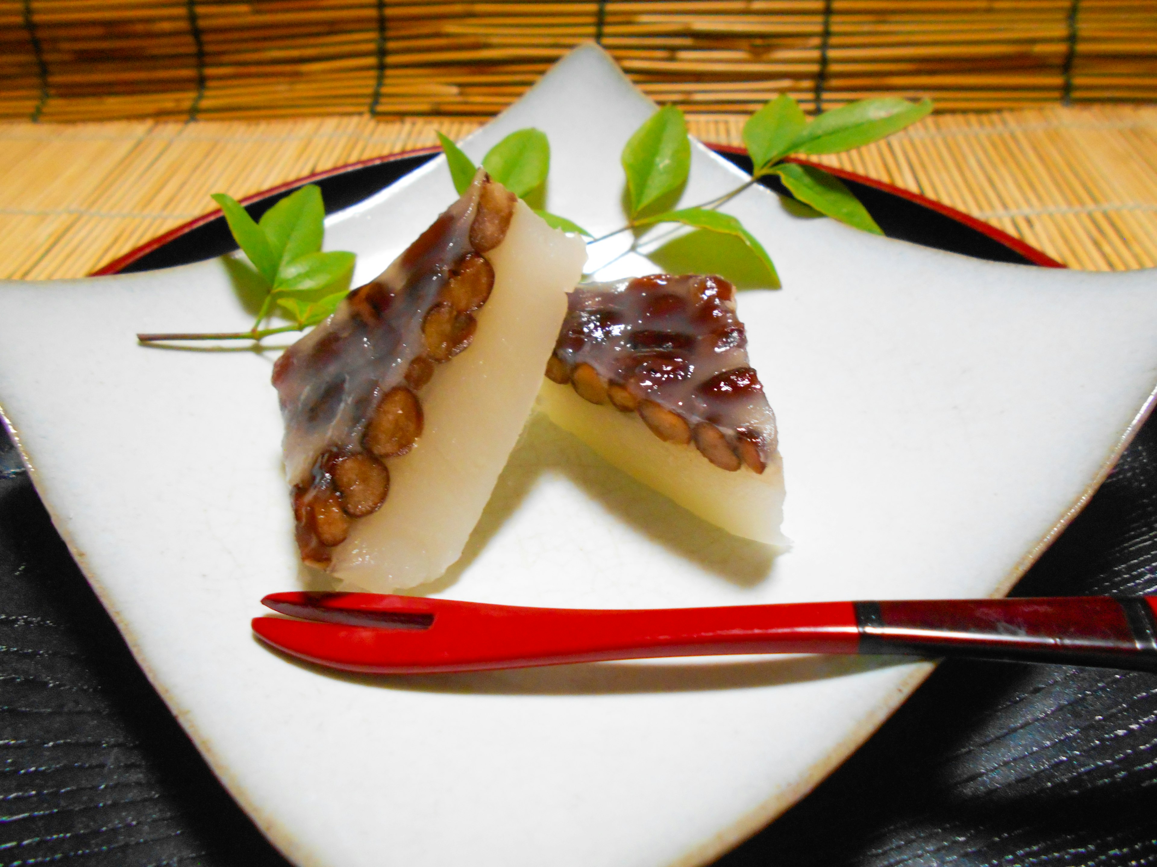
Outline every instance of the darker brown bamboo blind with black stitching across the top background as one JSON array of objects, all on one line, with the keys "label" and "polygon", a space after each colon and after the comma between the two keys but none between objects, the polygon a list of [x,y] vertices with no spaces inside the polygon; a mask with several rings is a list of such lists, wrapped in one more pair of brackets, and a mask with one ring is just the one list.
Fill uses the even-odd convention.
[{"label": "darker brown bamboo blind with black stitching across the top background", "polygon": [[700,113],[1157,98],[1157,0],[0,0],[0,117],[482,117],[589,39]]}]

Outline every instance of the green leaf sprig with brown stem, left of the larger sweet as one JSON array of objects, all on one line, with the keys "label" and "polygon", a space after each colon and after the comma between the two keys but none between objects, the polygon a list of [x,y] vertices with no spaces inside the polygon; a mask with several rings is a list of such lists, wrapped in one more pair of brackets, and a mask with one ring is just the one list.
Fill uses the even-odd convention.
[{"label": "green leaf sprig with brown stem, left of the larger sweet", "polygon": [[[253,327],[244,332],[198,334],[138,334],[142,343],[169,340],[253,340],[303,331],[329,317],[349,290],[354,254],[322,252],[325,206],[316,184],[307,184],[281,199],[257,222],[226,193],[213,193],[229,231],[249,257],[264,283]],[[290,324],[261,327],[274,311]]]}]

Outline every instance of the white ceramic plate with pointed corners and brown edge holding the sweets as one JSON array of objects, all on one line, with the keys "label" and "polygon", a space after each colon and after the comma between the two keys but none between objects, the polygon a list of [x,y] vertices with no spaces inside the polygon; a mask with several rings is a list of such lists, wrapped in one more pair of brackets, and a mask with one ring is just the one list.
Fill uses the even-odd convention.
[{"label": "white ceramic plate with pointed corners and brown edge holding the sweets", "polygon": [[[547,207],[609,230],[619,151],[650,111],[588,46],[465,150],[537,126]],[[684,202],[742,177],[697,147]],[[331,217],[326,244],[368,279],[452,198],[435,160]],[[739,313],[780,420],[794,549],[773,560],[535,420],[433,592],[610,608],[1000,594],[1140,424],[1154,271],[975,261],[798,218],[760,187],[728,210],[784,287],[744,292]],[[803,657],[369,679],[287,661],[249,631],[261,595],[311,580],[280,472],[275,353],[133,339],[248,323],[220,259],[3,283],[0,403],[138,660],[290,860],[702,864],[808,792],[929,670]]]}]

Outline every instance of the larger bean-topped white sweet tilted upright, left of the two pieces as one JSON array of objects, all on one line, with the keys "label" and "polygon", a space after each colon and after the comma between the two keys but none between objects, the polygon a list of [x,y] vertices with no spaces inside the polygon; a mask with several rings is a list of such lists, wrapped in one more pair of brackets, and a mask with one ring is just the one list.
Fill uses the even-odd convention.
[{"label": "larger bean-topped white sweet tilted upright, left of the two pieces", "polygon": [[585,245],[473,184],[278,360],[297,547],[371,591],[441,576],[533,408]]}]

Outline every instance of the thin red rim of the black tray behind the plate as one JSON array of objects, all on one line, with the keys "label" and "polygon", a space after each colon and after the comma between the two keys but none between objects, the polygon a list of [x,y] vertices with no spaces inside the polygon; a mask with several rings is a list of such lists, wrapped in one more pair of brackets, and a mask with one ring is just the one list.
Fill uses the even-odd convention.
[{"label": "thin red rim of the black tray behind the plate", "polygon": [[[747,153],[745,148],[736,147],[734,144],[708,144],[707,147],[709,147],[712,150],[721,150],[728,154]],[[441,153],[441,150],[442,150],[441,148],[436,147],[415,148],[414,150],[403,150],[398,154],[389,154],[386,156],[373,156],[368,160],[360,160],[356,163],[346,163],[345,165],[338,165],[334,166],[333,169],[326,169],[325,171],[315,172],[314,175],[307,175],[305,177],[302,178],[287,180],[286,183],[278,184],[277,186],[270,187],[268,190],[263,190],[260,192],[253,193],[252,195],[246,195],[244,199],[241,200],[241,203],[249,205],[250,202],[258,201],[260,199],[266,198],[267,195],[280,193],[283,190],[292,190],[294,187],[301,186],[302,184],[309,184],[315,180],[322,180],[324,178],[333,177],[334,175],[341,175],[344,172],[352,171],[354,169],[361,169],[367,165],[378,165],[381,163],[388,163],[393,160],[403,160],[411,156],[419,156],[421,154],[437,154]],[[970,229],[974,229],[981,235],[987,235],[989,238],[997,242],[998,244],[1003,244],[1004,246],[1016,251],[1025,259],[1031,261],[1033,265],[1039,265],[1045,268],[1066,267],[1063,264],[1056,261],[1055,259],[1053,259],[1053,257],[1048,255],[1047,253],[1042,253],[1034,246],[1025,244],[1019,238],[1016,238],[1009,235],[1008,232],[997,229],[995,225],[989,225],[982,220],[978,220],[974,216],[965,214],[963,210],[957,210],[956,208],[949,205],[943,205],[942,202],[938,202],[934,199],[929,199],[928,197],[921,195],[920,193],[913,193],[911,190],[905,190],[893,184],[887,184],[883,180],[876,180],[875,178],[869,178],[863,175],[857,175],[854,171],[847,171],[845,169],[837,169],[831,165],[820,165],[819,163],[811,163],[808,162],[806,160],[797,160],[795,157],[788,157],[788,161],[793,163],[798,163],[799,165],[815,165],[817,169],[821,169],[823,171],[834,175],[835,177],[841,178],[843,180],[853,180],[857,184],[863,184],[864,186],[875,187],[876,190],[880,190],[885,193],[891,193],[892,195],[897,195],[901,199],[907,199],[911,202],[915,202],[916,205],[929,208],[930,210],[935,210],[951,220],[955,220],[958,223],[967,225]],[[164,235],[159,235],[152,240],[141,244],[135,250],[130,250],[124,255],[113,259],[108,265],[104,265],[97,271],[94,271],[91,274],[89,274],[89,276],[98,277],[98,276],[105,276],[108,274],[119,274],[124,268],[132,265],[138,259],[147,255],[148,253],[152,253],[154,250],[163,247],[170,240],[179,238],[185,232],[191,231],[199,225],[204,225],[205,223],[212,220],[216,220],[219,216],[221,216],[221,209],[215,208],[206,214],[202,214],[199,217],[190,220],[187,223],[182,223],[180,225],[170,229]]]}]

